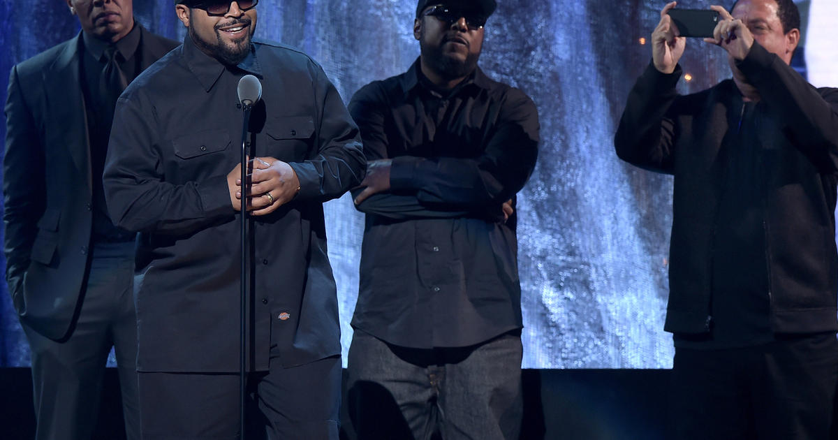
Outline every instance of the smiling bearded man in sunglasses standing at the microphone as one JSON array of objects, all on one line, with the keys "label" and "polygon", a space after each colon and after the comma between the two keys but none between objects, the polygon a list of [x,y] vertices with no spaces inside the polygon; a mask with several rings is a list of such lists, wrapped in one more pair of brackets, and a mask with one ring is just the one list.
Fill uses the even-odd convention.
[{"label": "smiling bearded man in sunglasses standing at the microphone", "polygon": [[[113,219],[140,232],[142,437],[240,437],[244,207],[248,425],[257,437],[336,439],[340,341],[323,202],[360,184],[358,129],[317,63],[251,41],[256,0],[176,3],[188,35],[117,103],[104,176]],[[262,92],[242,192],[244,75]]]}]

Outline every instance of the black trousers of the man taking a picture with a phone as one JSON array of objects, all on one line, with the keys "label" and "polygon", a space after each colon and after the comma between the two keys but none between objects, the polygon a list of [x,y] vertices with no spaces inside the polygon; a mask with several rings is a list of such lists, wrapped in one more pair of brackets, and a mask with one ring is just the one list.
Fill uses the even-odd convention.
[{"label": "black trousers of the man taking a picture with a phone", "polygon": [[830,437],[838,339],[779,336],[740,349],[675,349],[670,433],[675,440]]}]

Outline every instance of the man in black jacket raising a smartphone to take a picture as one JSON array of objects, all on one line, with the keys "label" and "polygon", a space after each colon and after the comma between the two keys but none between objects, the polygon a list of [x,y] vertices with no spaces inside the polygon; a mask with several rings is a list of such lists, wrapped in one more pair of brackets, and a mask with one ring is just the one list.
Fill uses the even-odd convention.
[{"label": "man in black jacket raising a smartphone to take a picture", "polygon": [[661,11],[617,153],[675,176],[668,438],[829,437],[838,340],[838,90],[790,66],[792,0],[740,0],[704,41],[732,80],[679,96],[686,39]]}]

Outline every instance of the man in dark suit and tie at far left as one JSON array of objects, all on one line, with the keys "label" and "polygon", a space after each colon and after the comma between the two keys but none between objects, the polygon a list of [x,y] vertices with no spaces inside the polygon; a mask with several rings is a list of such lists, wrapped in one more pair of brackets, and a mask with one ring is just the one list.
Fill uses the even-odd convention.
[{"label": "man in dark suit and tie at far left", "polygon": [[131,0],[67,0],[82,32],[13,67],[3,159],[8,290],[32,352],[36,438],[90,438],[111,346],[127,437],[138,436],[134,234],[101,173],[116,97],[177,45]]}]

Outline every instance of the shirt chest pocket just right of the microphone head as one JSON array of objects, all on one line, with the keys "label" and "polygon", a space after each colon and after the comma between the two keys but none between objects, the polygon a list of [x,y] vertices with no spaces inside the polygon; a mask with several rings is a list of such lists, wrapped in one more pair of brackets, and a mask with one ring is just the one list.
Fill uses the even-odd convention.
[{"label": "shirt chest pocket just right of the microphone head", "polygon": [[271,156],[282,162],[299,162],[313,156],[314,118],[282,116],[266,123],[266,145],[256,156]]}]

